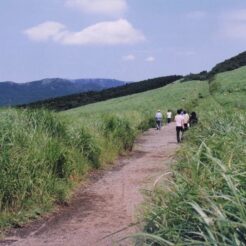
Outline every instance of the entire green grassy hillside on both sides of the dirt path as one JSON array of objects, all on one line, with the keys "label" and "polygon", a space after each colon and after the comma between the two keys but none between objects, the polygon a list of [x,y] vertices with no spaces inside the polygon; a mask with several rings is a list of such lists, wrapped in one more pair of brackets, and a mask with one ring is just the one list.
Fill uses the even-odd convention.
[{"label": "entire green grassy hillside on both sides of the dirt path", "polygon": [[157,109],[185,108],[199,124],[177,153],[171,192],[151,193],[139,236],[146,245],[246,244],[245,77],[241,67],[59,113],[1,109],[0,227],[66,202],[88,171],[132,148]]}]

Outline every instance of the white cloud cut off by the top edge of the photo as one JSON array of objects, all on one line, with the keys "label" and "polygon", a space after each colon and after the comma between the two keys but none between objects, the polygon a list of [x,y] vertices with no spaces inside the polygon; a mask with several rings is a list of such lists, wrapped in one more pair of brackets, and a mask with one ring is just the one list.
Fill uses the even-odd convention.
[{"label": "white cloud cut off by the top edge of the photo", "polygon": [[65,5],[86,13],[122,14],[126,8],[126,0],[66,0]]}]

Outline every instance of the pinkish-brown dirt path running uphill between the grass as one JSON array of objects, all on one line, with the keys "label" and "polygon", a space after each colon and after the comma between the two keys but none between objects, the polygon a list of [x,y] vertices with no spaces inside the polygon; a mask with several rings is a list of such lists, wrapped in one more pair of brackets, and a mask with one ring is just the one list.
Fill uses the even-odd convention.
[{"label": "pinkish-brown dirt path running uphill between the grass", "polygon": [[141,189],[153,188],[155,180],[168,172],[177,147],[173,123],[161,131],[150,129],[137,139],[130,155],[79,189],[62,211],[16,230],[0,245],[131,245],[129,239],[119,240],[136,231],[129,225],[136,223]]}]

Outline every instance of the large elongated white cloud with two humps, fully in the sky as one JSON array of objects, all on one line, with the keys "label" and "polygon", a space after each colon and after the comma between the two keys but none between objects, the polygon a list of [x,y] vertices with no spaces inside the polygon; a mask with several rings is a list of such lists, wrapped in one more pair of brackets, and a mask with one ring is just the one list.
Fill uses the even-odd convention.
[{"label": "large elongated white cloud with two humps, fully in the sky", "polygon": [[78,32],[71,32],[58,22],[45,22],[24,33],[34,41],[52,40],[64,45],[134,44],[145,40],[144,35],[124,19],[99,22]]}]

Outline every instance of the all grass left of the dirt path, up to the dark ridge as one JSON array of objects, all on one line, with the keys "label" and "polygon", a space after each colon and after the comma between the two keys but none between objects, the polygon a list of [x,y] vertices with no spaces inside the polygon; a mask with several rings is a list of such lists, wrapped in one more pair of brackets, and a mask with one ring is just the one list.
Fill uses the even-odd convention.
[{"label": "all grass left of the dirt path, up to the dark ridge", "polygon": [[176,82],[59,114],[1,110],[0,227],[18,225],[66,201],[89,170],[131,149],[158,108],[176,110],[207,93],[204,82]]}]

